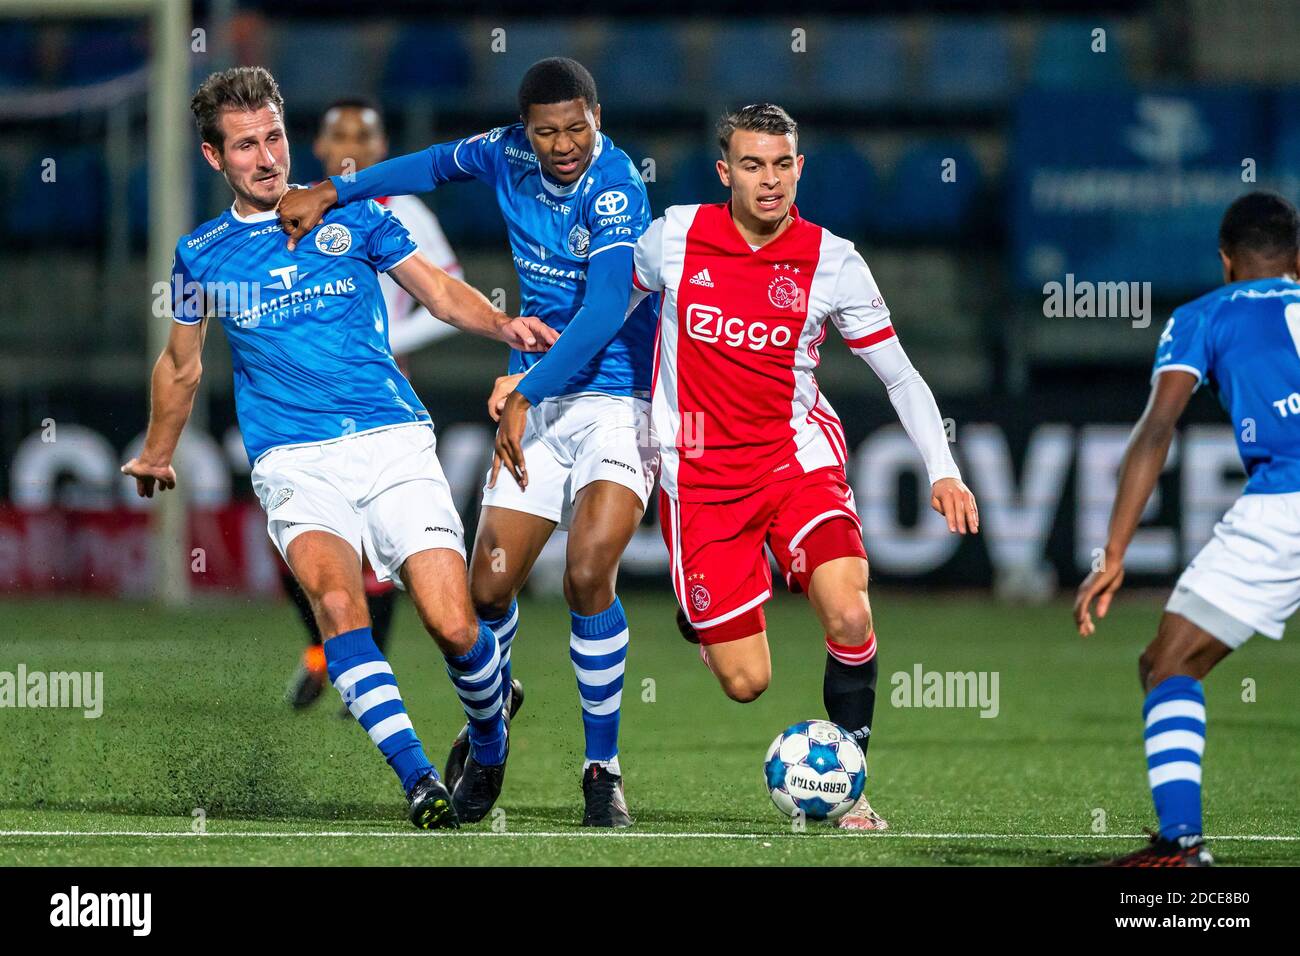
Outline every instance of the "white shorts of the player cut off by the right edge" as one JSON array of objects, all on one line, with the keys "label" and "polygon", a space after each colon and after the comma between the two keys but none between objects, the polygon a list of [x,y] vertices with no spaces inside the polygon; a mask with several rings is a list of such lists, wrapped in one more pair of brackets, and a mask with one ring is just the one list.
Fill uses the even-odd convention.
[{"label": "white shorts of the player cut off by the right edge", "polygon": [[1280,639],[1297,607],[1300,492],[1294,492],[1238,498],[1178,579],[1165,610],[1239,648],[1254,632]]}]

